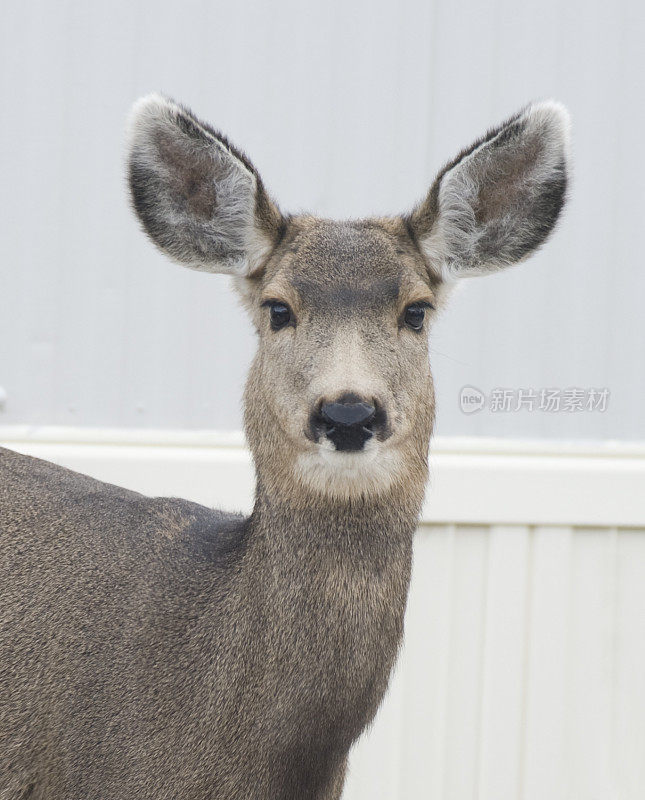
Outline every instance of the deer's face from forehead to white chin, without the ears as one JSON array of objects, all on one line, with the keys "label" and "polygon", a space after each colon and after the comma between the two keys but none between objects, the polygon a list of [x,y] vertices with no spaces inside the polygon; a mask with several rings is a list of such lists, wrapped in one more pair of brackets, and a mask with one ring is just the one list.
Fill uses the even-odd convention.
[{"label": "deer's face from forehead to white chin, without the ears", "polygon": [[321,491],[423,469],[438,301],[405,226],[293,219],[244,288],[260,339],[247,389],[255,437],[274,428],[296,478]]}]

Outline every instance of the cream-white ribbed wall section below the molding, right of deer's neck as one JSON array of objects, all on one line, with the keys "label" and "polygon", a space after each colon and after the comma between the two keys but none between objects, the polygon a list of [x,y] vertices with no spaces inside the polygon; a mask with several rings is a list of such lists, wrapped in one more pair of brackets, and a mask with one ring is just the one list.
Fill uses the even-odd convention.
[{"label": "cream-white ribbed wall section below the molding, right of deer's neck", "polygon": [[433,584],[446,529],[418,533],[393,690],[355,749],[344,800],[640,800],[645,529],[449,536],[452,568],[441,562],[449,577]]}]

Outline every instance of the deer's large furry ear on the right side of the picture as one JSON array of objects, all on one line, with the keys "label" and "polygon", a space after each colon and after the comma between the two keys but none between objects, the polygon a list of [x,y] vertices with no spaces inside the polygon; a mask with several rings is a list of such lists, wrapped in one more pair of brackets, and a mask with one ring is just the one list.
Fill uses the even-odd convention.
[{"label": "deer's large furry ear on the right side of the picture", "polygon": [[485,274],[539,247],[564,204],[568,150],[569,114],[549,101],[528,106],[450,162],[408,217],[438,277]]}]

